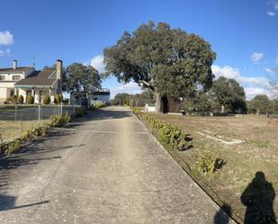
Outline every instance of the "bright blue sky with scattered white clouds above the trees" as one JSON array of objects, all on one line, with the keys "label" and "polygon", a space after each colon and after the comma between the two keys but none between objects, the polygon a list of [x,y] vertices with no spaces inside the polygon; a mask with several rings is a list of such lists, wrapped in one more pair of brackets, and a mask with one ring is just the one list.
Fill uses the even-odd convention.
[{"label": "bright blue sky with scattered white clouds above the trees", "polygon": [[[278,66],[278,0],[73,1],[1,0],[0,67],[35,62],[40,69],[63,59],[103,69],[103,48],[142,22],[168,22],[197,33],[217,53],[213,71],[233,77],[247,98],[269,94],[266,78]],[[112,94],[137,93],[135,84],[103,82]]]}]

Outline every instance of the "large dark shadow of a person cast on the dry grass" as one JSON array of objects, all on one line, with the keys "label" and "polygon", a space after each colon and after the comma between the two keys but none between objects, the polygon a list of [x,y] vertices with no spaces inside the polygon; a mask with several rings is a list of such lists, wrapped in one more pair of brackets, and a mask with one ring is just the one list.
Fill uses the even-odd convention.
[{"label": "large dark shadow of a person cast on the dry grass", "polygon": [[263,172],[257,172],[241,195],[241,202],[247,206],[244,223],[277,224],[274,199],[273,184],[265,180]]}]

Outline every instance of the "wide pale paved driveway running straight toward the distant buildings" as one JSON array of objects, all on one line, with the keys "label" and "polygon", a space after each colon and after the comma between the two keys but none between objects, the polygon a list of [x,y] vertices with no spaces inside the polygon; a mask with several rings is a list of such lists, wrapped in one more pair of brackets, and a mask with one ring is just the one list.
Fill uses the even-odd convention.
[{"label": "wide pale paved driveway running straight toward the distant buildings", "polygon": [[0,158],[1,224],[228,221],[124,108]]}]

